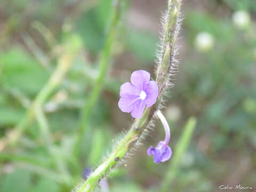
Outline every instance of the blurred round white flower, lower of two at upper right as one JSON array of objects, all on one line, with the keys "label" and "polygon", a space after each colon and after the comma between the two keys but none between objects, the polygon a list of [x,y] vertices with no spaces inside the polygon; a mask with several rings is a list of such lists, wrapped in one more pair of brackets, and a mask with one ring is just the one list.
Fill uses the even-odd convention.
[{"label": "blurred round white flower, lower of two at upper right", "polygon": [[207,52],[212,49],[214,38],[211,34],[202,32],[197,34],[195,39],[195,47],[198,51]]}]

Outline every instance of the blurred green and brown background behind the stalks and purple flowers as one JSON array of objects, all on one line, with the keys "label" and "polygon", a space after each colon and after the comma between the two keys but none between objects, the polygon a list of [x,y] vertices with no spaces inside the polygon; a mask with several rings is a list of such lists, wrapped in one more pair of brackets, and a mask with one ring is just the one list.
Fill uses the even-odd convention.
[{"label": "blurred green and brown background behind the stalks and purple flowers", "polygon": [[[1,0],[0,191],[70,191],[85,167],[96,167],[115,138],[129,129],[130,114],[117,106],[119,86],[134,70],[154,77],[155,50],[164,0],[128,1],[111,52],[102,93],[90,116],[83,151],[73,156],[81,107],[98,75],[98,58],[111,14],[109,0]],[[179,73],[164,115],[175,150],[187,119],[198,123],[170,191],[220,191],[220,185],[256,189],[256,1],[183,2]],[[71,40],[70,40],[71,39]],[[74,40],[75,39],[75,40]],[[5,147],[66,45],[78,53],[43,111],[51,146],[32,121],[16,146]],[[79,44],[79,45],[77,45]],[[154,164],[146,150],[162,140],[154,132],[126,165],[108,178],[110,191],[158,191],[169,162]],[[238,190],[237,190],[238,191]]]}]

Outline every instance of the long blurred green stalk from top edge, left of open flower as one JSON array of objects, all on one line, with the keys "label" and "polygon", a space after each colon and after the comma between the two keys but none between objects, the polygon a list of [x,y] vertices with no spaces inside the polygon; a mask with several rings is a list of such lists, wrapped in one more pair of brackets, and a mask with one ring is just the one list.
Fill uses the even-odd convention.
[{"label": "long blurred green stalk from top edge, left of open flower", "polygon": [[85,105],[82,108],[82,115],[81,115],[81,124],[79,125],[78,132],[77,132],[77,141],[75,145],[75,154],[79,154],[79,150],[82,147],[81,142],[84,136],[85,131],[88,129],[88,122],[90,119],[90,115],[92,113],[92,109],[95,106],[95,103],[97,102],[101,89],[102,84],[105,80],[107,69],[109,66],[109,60],[111,57],[111,50],[112,45],[114,42],[114,39],[116,37],[116,31],[118,27],[118,21],[121,18],[121,9],[122,9],[122,2],[123,0],[117,0],[113,1],[113,15],[111,17],[109,30],[107,33],[107,38],[105,45],[103,47],[103,51],[100,56],[99,60],[99,75],[97,79],[95,79],[94,86],[92,88],[92,91],[85,103]]}]

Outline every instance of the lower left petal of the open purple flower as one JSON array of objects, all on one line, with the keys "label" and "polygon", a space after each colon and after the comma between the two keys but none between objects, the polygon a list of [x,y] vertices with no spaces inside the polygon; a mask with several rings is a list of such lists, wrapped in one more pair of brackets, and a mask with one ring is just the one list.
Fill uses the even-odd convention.
[{"label": "lower left petal of the open purple flower", "polygon": [[139,104],[141,99],[136,95],[129,95],[126,97],[121,97],[118,102],[118,107],[126,113],[130,113],[135,106]]}]

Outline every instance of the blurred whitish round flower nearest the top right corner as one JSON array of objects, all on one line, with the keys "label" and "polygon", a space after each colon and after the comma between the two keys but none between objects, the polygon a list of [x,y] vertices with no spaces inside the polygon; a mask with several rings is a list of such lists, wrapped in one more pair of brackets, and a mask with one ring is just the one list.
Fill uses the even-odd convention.
[{"label": "blurred whitish round flower nearest the top right corner", "polygon": [[246,28],[250,23],[250,15],[246,11],[237,11],[233,13],[233,22],[239,29]]}]

